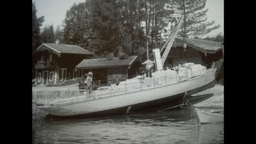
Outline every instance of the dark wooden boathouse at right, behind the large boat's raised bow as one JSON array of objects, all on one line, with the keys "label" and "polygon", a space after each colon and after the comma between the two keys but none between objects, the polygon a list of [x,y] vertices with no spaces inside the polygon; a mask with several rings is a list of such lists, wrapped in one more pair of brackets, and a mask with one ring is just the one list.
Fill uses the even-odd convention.
[{"label": "dark wooden boathouse at right, behind the large boat's raised bow", "polygon": [[[186,48],[184,48],[186,44]],[[200,39],[180,38],[176,37],[170,52],[168,53],[165,65],[178,66],[187,62],[195,64],[210,64],[214,61],[216,71],[216,80],[218,83],[223,82],[224,77],[224,58],[223,58],[223,44],[219,42],[212,42]],[[160,49],[161,56],[165,48]],[[150,55],[150,60],[154,60],[153,54]],[[210,65],[209,65],[210,66]]]}]

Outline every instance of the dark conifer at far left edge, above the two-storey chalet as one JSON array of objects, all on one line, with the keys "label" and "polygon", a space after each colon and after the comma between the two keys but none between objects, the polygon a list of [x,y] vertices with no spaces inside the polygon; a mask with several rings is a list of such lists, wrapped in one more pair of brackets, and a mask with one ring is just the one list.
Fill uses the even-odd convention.
[{"label": "dark conifer at far left edge, above the two-storey chalet", "polygon": [[35,2],[32,4],[32,52],[41,44],[40,43],[40,27],[44,22],[44,16],[37,18]]}]

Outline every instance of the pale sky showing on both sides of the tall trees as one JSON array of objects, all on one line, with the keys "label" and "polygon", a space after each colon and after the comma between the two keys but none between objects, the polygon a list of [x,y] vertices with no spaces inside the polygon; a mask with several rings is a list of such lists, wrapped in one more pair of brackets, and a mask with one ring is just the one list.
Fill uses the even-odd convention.
[{"label": "pale sky showing on both sides of the tall trees", "polygon": [[[44,16],[44,23],[41,27],[53,25],[56,29],[57,25],[62,25],[65,19],[67,10],[74,3],[85,2],[85,0],[32,0],[35,2],[37,13],[36,16]],[[203,36],[216,36],[219,33],[224,34],[224,0],[207,0],[205,9],[208,8],[206,13],[207,21],[215,21],[215,25],[219,24],[220,28]]]}]

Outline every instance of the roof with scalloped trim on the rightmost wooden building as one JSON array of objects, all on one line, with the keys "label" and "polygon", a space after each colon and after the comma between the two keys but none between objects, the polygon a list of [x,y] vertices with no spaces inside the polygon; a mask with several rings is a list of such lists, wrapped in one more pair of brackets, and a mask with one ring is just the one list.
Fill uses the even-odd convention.
[{"label": "roof with scalloped trim on the rightmost wooden building", "polygon": [[[176,37],[176,44],[173,44],[173,47],[182,46],[183,44],[183,38]],[[221,50],[222,44],[219,42],[212,42],[212,41],[206,41],[201,39],[192,39],[192,38],[186,38],[186,44],[192,48],[195,48],[201,52],[206,53],[215,53]]]}]

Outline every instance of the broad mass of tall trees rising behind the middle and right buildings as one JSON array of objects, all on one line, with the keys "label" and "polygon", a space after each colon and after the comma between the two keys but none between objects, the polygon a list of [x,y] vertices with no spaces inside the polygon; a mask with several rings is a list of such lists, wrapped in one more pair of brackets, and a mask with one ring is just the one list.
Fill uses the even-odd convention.
[{"label": "broad mass of tall trees rising behind the middle and right buildings", "polygon": [[219,28],[219,25],[211,27],[214,21],[206,22],[208,10],[204,10],[205,2],[87,0],[74,4],[67,11],[63,22],[63,41],[94,52],[94,58],[106,57],[108,53],[119,56],[123,52],[147,59],[153,48],[163,46],[166,36],[177,25],[178,20],[172,16],[174,13],[185,13],[182,27],[186,37]]}]

